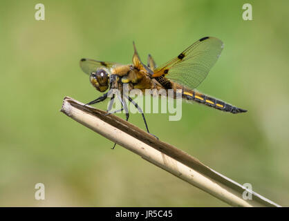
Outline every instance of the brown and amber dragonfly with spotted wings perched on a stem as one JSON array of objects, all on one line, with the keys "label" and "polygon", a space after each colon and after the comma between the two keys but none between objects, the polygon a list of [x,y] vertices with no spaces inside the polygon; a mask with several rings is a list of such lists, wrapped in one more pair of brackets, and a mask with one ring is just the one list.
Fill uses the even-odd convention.
[{"label": "brown and amber dragonfly with spotted wings perched on a stem", "polygon": [[[174,98],[178,90],[181,91],[182,99],[187,101],[198,102],[210,108],[228,113],[244,113],[246,110],[242,108],[237,108],[227,102],[221,101],[221,99],[216,99],[196,90],[207,77],[209,70],[214,66],[218,57],[220,57],[223,45],[223,42],[216,37],[203,37],[183,52],[180,52],[174,59],[161,66],[156,66],[156,62],[151,55],[148,56],[147,65],[142,63],[136,50],[136,45],[133,42],[133,64],[122,65],[114,62],[83,58],[80,60],[80,67],[84,73],[89,75],[91,84],[101,93],[110,89],[122,91],[124,84],[129,85],[129,90],[137,88],[142,90],[142,92],[145,92],[146,89],[172,89],[174,90]],[[104,93],[86,105],[103,102],[108,98],[108,94]],[[129,102],[138,108],[149,133],[145,115],[131,97],[113,95],[107,112],[111,111],[115,98],[118,98],[122,104],[122,108],[118,111],[124,110],[127,120],[129,119],[129,111],[124,99],[128,99]]]}]

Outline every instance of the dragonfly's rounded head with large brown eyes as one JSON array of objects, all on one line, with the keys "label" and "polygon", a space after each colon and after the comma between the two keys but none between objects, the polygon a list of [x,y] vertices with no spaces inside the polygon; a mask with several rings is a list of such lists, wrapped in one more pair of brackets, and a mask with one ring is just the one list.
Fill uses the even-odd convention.
[{"label": "dragonfly's rounded head with large brown eyes", "polygon": [[104,69],[98,69],[91,73],[91,84],[100,92],[104,92],[109,88],[109,74]]}]

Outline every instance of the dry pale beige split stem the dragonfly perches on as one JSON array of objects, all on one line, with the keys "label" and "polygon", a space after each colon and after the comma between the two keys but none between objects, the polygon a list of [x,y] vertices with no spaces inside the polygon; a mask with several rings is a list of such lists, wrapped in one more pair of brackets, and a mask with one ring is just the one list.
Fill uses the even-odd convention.
[{"label": "dry pale beige split stem the dragonfly perches on", "polygon": [[112,142],[140,155],[143,159],[227,204],[232,206],[279,206],[253,191],[251,191],[252,200],[244,200],[243,193],[248,190],[241,184],[213,171],[184,151],[157,140],[149,133],[115,115],[105,115],[106,112],[91,106],[84,106],[70,97],[64,98],[61,111]]}]

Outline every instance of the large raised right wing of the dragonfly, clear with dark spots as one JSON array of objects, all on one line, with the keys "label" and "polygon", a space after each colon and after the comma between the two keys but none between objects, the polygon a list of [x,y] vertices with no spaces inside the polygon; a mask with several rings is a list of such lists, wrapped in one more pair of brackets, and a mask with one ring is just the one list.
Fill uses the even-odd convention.
[{"label": "large raised right wing of the dragonfly, clear with dark spots", "polygon": [[178,57],[153,70],[152,77],[165,76],[194,89],[207,77],[223,50],[223,42],[215,37],[203,37],[180,53]]}]

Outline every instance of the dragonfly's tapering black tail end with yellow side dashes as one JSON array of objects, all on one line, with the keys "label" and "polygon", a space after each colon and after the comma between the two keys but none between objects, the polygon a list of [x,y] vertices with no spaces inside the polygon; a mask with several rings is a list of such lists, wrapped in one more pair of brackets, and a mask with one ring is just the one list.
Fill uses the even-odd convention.
[{"label": "dragonfly's tapering black tail end with yellow side dashes", "polygon": [[227,104],[222,102],[221,100],[215,99],[213,97],[209,97],[207,95],[203,95],[201,93],[196,93],[194,90],[192,91],[183,91],[183,99],[193,100],[194,102],[198,102],[201,104],[205,104],[212,108],[218,109],[220,111],[230,112],[230,113],[243,113],[247,112],[241,108],[237,108],[236,106],[232,106],[231,104]]}]

